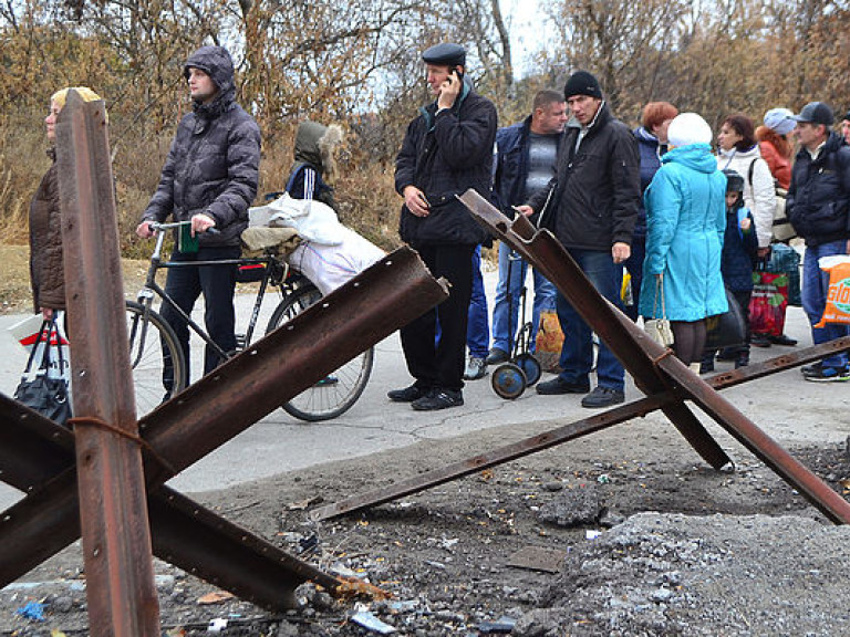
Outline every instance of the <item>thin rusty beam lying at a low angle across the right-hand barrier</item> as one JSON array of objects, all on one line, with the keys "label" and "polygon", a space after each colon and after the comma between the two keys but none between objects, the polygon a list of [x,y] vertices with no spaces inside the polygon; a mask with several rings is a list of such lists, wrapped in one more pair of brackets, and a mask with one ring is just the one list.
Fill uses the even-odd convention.
[{"label": "thin rusty beam lying at a low angle across the right-hand barrier", "polygon": [[[725,389],[727,387],[740,385],[747,380],[763,378],[798,365],[805,365],[806,363],[818,361],[831,353],[846,349],[850,349],[850,337],[799,349],[792,354],[784,354],[776,358],[765,361],[764,363],[753,364],[748,367],[742,367],[732,372],[722,372],[706,378],[705,383],[715,389]],[[496,467],[516,460],[517,458],[543,451],[550,447],[556,447],[563,442],[568,442],[569,440],[587,436],[588,434],[600,431],[612,425],[630,420],[631,418],[644,416],[650,411],[661,409],[665,405],[670,406],[673,403],[681,401],[681,396],[673,391],[641,398],[640,400],[603,411],[597,416],[583,418],[569,425],[564,425],[563,427],[557,427],[556,429],[549,429],[529,438],[518,440],[511,445],[497,447],[496,449],[491,449],[490,451],[473,458],[419,473],[414,478],[396,481],[390,487],[375,489],[374,491],[369,491],[366,493],[361,493],[360,495],[354,495],[352,498],[346,498],[345,500],[340,500],[339,502],[320,507],[311,511],[309,516],[314,521],[328,520],[346,513],[362,511],[363,509],[376,507],[385,502],[392,502],[393,500],[404,498],[405,495],[418,493],[426,489],[431,489],[432,487],[457,480],[464,476],[475,473],[476,471],[481,471],[489,467]]]}]

